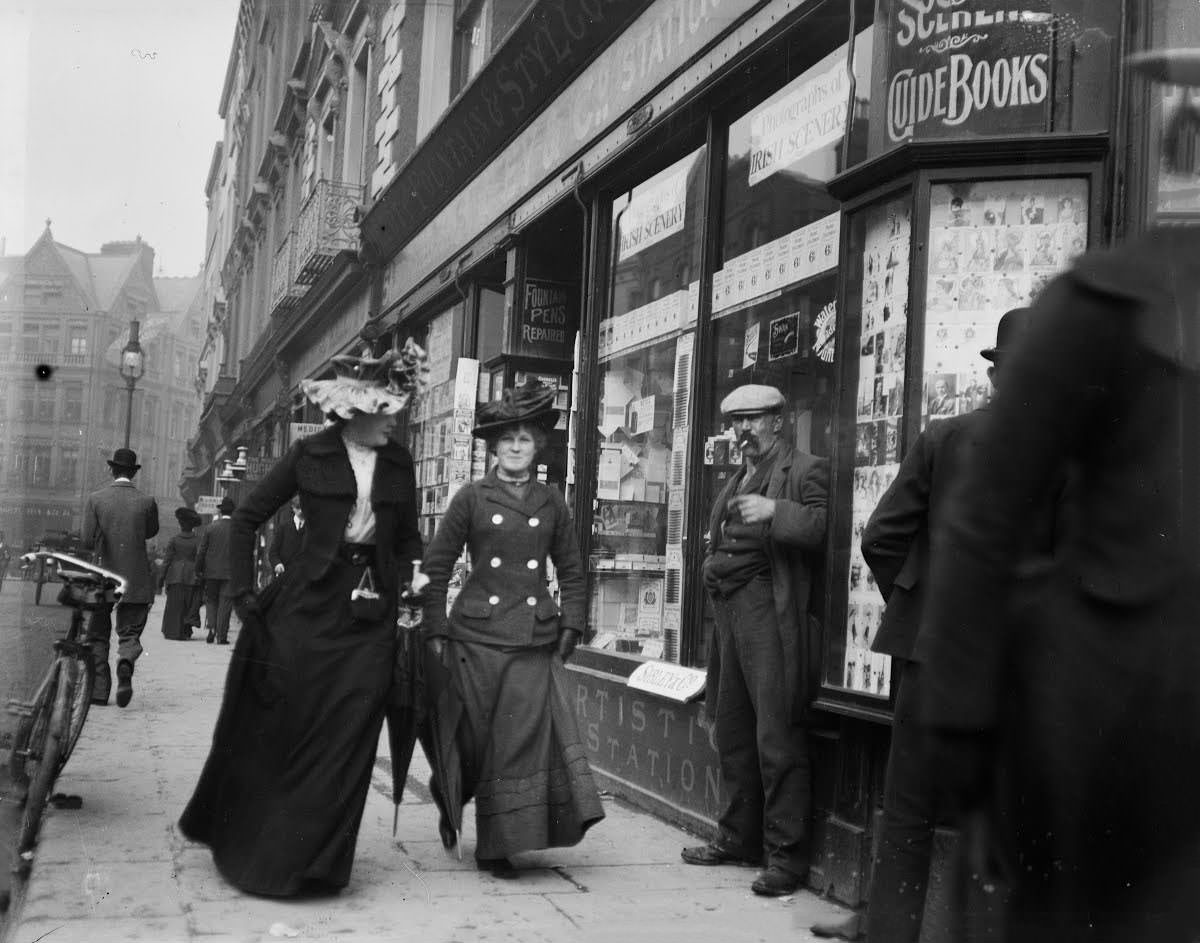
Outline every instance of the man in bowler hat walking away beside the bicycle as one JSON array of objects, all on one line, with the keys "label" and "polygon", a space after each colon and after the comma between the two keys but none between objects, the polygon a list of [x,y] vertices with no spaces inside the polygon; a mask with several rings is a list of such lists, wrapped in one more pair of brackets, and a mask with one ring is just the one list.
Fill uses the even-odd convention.
[{"label": "man in bowler hat walking away beside the bicycle", "polygon": [[88,624],[96,673],[91,699],[95,704],[108,703],[112,687],[108,651],[115,615],[116,704],[126,707],[133,697],[133,666],[142,654],[142,630],[155,596],[146,541],[158,533],[158,505],[133,486],[133,476],[142,466],[132,449],[118,449],[108,467],[113,483],[88,495],[82,545],[95,549],[102,565],[125,577],[126,589],[115,609],[97,609]]}]

